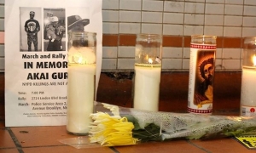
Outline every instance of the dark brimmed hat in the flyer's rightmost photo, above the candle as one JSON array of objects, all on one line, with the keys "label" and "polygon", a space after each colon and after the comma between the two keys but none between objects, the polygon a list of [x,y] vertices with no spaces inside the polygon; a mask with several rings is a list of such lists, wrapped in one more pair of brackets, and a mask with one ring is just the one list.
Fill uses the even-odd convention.
[{"label": "dark brimmed hat in the flyer's rightmost photo, above the candle", "polygon": [[90,23],[89,19],[82,19],[79,15],[72,15],[67,17],[67,30],[71,30],[76,24],[83,24],[84,26]]}]

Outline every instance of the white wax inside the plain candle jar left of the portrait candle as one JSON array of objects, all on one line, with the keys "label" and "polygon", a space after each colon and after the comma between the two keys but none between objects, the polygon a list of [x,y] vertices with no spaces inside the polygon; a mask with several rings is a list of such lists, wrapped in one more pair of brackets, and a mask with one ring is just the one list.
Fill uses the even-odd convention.
[{"label": "white wax inside the plain candle jar left of the portrait candle", "polygon": [[158,111],[161,68],[135,65],[135,109]]}]

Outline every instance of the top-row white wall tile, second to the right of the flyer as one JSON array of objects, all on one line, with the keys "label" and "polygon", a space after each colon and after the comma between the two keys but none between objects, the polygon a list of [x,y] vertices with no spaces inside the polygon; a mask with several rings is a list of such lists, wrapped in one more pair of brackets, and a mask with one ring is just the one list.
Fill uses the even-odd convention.
[{"label": "top-row white wall tile, second to the right of the flyer", "polygon": [[142,0],[119,0],[119,9],[141,10]]}]

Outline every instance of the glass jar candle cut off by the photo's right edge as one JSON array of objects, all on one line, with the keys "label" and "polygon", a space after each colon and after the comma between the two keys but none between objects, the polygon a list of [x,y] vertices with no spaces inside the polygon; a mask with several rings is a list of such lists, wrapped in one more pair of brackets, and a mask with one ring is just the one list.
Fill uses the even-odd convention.
[{"label": "glass jar candle cut off by the photo's right edge", "polygon": [[241,75],[241,116],[256,116],[256,37],[245,37]]}]

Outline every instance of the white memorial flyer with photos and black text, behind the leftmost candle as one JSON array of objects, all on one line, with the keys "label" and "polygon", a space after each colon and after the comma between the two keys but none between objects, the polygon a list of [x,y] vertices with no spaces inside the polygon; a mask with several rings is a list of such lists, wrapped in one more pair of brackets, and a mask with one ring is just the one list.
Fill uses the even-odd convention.
[{"label": "white memorial flyer with photos and black text, behind the leftmost candle", "polygon": [[68,31],[96,32],[102,66],[102,0],[5,1],[5,126],[66,124]]}]

